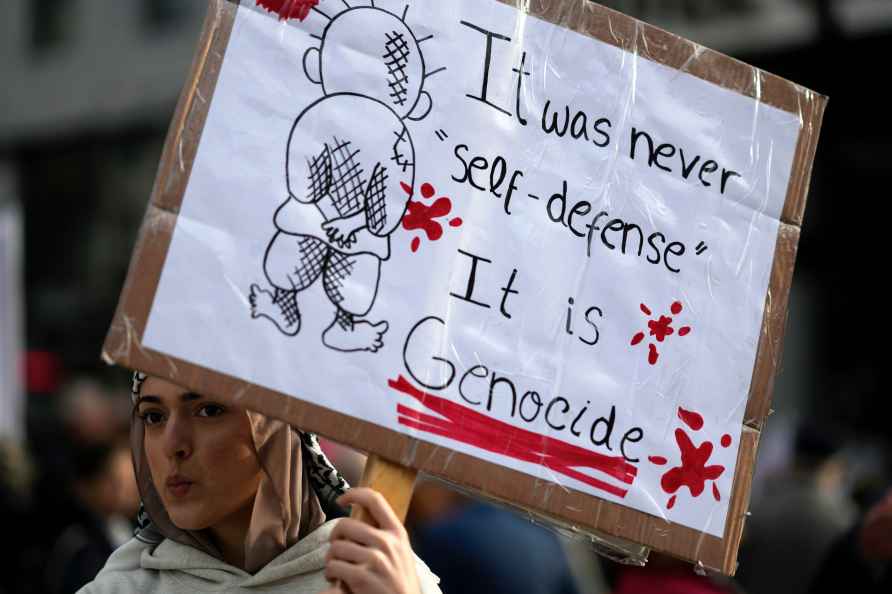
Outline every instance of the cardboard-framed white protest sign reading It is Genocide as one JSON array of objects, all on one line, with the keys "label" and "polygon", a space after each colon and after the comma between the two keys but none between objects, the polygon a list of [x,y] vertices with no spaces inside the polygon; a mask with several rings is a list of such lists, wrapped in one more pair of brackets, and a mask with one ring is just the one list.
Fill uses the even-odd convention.
[{"label": "cardboard-framed white protest sign reading It is Genocide", "polygon": [[732,572],[824,99],[582,0],[277,4],[211,4],[107,357]]}]

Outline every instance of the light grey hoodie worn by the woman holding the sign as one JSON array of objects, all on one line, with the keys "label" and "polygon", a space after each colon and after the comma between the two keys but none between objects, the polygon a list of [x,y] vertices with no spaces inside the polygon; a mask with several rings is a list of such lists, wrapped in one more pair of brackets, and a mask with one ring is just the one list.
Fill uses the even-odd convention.
[{"label": "light grey hoodie worn by the woman holding the sign", "polygon": [[[336,524],[337,520],[326,522],[254,575],[172,540],[153,546],[134,538],[116,550],[78,594],[318,594],[329,587],[325,554]],[[417,571],[422,594],[440,594],[440,580],[420,559]]]}]

